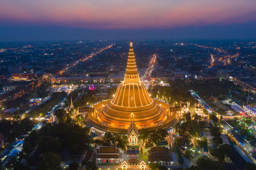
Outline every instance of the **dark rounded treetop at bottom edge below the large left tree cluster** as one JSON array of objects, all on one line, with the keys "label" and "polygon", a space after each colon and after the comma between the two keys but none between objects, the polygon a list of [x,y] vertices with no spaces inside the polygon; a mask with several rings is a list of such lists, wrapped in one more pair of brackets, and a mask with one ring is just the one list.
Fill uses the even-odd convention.
[{"label": "dark rounded treetop at bottom edge below the large left tree cluster", "polygon": [[38,170],[54,170],[60,166],[60,156],[53,152],[45,152],[43,159],[38,165]]}]

